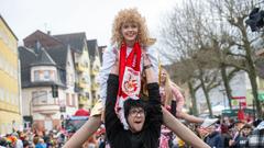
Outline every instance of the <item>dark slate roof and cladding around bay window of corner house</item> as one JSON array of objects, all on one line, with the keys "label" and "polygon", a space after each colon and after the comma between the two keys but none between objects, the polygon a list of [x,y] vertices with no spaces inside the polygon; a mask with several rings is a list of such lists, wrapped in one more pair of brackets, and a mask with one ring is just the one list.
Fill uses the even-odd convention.
[{"label": "dark slate roof and cladding around bay window of corner house", "polygon": [[[63,47],[62,47],[63,48]],[[64,49],[65,52],[61,53],[59,56],[58,52],[62,50],[58,49],[57,52],[54,52],[56,49],[51,49],[48,53],[44,47],[40,48],[28,48],[20,46],[19,47],[19,57],[21,61],[21,83],[22,88],[33,88],[33,87],[50,87],[52,84],[57,84],[59,87],[65,88],[66,86],[66,70],[65,67],[59,67],[59,65],[66,65],[67,57],[67,49]],[[57,57],[57,58],[56,58]],[[65,60],[63,60],[65,58]],[[55,61],[58,61],[57,65]],[[65,61],[65,62],[64,62]],[[57,68],[57,81],[41,81],[41,82],[31,82],[31,67],[32,66],[55,66]]]}]

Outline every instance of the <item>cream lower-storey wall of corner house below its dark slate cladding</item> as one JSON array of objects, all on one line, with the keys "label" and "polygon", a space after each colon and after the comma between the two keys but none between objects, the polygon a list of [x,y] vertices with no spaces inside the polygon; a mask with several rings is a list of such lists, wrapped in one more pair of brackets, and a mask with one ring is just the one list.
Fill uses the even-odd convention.
[{"label": "cream lower-storey wall of corner house below its dark slate cladding", "polygon": [[[40,103],[37,98],[33,99],[33,92],[46,91],[47,103]],[[51,129],[50,125],[54,128],[55,126],[61,126],[61,115],[72,115],[74,111],[66,107],[66,113],[59,112],[61,105],[66,105],[66,93],[65,90],[58,89],[58,98],[52,96],[51,87],[37,87],[28,88],[22,90],[23,99],[23,115],[33,116],[33,123],[40,130]],[[32,100],[33,99],[33,100]],[[53,124],[48,124],[53,123]]]}]

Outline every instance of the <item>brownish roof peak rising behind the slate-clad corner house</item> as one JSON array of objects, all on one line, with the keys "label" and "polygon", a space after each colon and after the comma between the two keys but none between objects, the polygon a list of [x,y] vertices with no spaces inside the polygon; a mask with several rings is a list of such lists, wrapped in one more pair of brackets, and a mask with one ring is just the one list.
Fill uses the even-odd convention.
[{"label": "brownish roof peak rising behind the slate-clad corner house", "polygon": [[26,36],[23,39],[23,42],[24,42],[24,46],[29,48],[34,48],[36,42],[40,42],[41,45],[45,48],[63,45],[61,41],[54,38],[53,36],[46,33],[43,33],[40,30]]}]

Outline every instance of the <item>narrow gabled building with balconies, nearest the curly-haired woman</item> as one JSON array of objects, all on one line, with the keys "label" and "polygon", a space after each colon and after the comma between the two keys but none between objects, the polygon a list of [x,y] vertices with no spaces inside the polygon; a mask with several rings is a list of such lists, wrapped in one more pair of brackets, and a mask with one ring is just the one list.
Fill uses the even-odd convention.
[{"label": "narrow gabled building with balconies, nearest the curly-haired woman", "polygon": [[96,101],[99,99],[99,82],[97,81],[97,77],[99,75],[99,70],[101,67],[99,47],[97,44],[97,39],[87,41],[89,58],[90,58],[90,78],[91,78],[91,102],[90,105],[94,106]]}]

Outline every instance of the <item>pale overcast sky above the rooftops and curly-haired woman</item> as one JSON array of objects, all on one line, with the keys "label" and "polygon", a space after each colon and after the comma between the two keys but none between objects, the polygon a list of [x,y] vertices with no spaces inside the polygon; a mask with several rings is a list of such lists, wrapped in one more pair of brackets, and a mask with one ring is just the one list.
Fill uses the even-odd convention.
[{"label": "pale overcast sky above the rooftops and curly-haired woman", "polygon": [[52,35],[86,32],[99,45],[109,45],[112,22],[121,9],[138,8],[153,37],[179,0],[1,0],[0,14],[22,39],[36,30]]}]

